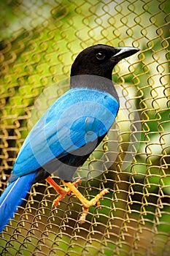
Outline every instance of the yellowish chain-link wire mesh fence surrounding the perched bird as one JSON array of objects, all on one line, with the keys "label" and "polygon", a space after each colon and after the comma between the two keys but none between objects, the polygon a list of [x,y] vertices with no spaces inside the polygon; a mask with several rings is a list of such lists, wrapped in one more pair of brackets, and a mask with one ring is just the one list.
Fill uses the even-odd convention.
[{"label": "yellowish chain-link wire mesh fence surrounding the perched bird", "polygon": [[53,187],[34,184],[0,235],[1,255],[169,255],[169,1],[0,5],[1,192],[32,124],[69,89],[77,53],[97,43],[141,49],[115,67],[120,111],[76,174],[88,176],[87,198],[109,188],[101,206],[80,225],[73,195],[53,208]]}]

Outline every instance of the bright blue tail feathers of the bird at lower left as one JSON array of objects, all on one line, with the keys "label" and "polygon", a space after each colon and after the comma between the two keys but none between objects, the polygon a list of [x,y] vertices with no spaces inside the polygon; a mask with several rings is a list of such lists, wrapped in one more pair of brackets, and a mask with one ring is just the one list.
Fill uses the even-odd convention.
[{"label": "bright blue tail feathers of the bird at lower left", "polygon": [[18,206],[26,197],[31,188],[36,172],[21,176],[9,183],[0,197],[0,232],[4,229],[9,219],[13,217]]}]

